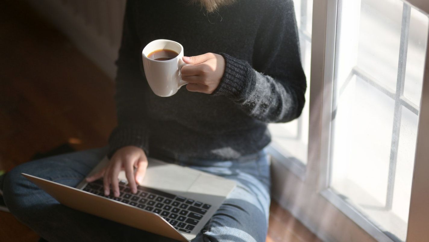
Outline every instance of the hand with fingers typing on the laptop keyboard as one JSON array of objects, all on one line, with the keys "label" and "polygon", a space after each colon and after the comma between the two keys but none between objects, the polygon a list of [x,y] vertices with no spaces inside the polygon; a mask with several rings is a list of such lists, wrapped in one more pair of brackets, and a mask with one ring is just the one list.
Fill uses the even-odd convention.
[{"label": "hand with fingers typing on the laptop keyboard", "polygon": [[[134,176],[134,167],[137,168],[136,176]],[[145,176],[146,168],[148,167],[148,158],[145,152],[136,146],[124,146],[118,149],[110,159],[109,164],[93,176],[87,177],[87,182],[93,182],[103,177],[104,194],[109,196],[110,185],[112,185],[113,195],[119,197],[119,171],[125,170],[133,193],[137,192],[137,185]]]}]

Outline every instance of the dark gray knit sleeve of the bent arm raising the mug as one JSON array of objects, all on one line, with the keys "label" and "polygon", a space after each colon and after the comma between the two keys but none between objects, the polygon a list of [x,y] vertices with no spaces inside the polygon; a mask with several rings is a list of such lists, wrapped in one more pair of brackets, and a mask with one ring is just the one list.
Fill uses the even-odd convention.
[{"label": "dark gray knit sleeve of the bent arm raising the mug", "polygon": [[306,81],[292,0],[273,1],[260,23],[252,65],[221,53],[225,72],[212,95],[224,95],[251,117],[288,122],[302,112]]}]

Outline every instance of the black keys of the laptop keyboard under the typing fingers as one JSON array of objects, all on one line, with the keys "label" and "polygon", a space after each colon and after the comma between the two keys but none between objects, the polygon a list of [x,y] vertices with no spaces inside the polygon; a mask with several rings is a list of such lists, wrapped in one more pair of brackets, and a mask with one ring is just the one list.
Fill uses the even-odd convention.
[{"label": "black keys of the laptop keyboard under the typing fingers", "polygon": [[[82,190],[106,197],[102,179],[88,183]],[[176,230],[185,233],[190,233],[211,207],[207,203],[139,185],[137,185],[137,193],[133,194],[123,181],[119,182],[119,190],[119,197],[109,195],[107,198],[157,213]]]}]

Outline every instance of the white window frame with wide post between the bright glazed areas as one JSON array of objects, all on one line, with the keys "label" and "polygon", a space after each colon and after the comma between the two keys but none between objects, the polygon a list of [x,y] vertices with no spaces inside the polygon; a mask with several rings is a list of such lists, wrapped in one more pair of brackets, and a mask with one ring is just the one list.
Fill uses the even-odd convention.
[{"label": "white window frame with wide post between the bright glazed areas", "polygon": [[[403,2],[429,14],[427,0]],[[347,241],[347,238],[353,238],[356,241],[392,242],[362,213],[329,189],[329,140],[339,4],[341,0],[313,2],[308,163],[302,174],[302,167],[296,167],[293,162],[285,165],[284,158],[281,161],[281,152],[269,149],[274,157],[272,196],[323,240]],[[426,49],[407,241],[429,238],[429,125],[420,125],[429,123],[429,48]],[[390,173],[394,173],[394,165],[390,169]],[[319,211],[320,208],[324,211]],[[335,227],[332,220],[342,221],[341,228]]]}]

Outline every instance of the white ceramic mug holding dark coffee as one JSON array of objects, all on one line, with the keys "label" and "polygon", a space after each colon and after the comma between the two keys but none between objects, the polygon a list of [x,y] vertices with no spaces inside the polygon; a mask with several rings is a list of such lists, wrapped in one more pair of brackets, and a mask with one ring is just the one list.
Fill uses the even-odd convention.
[{"label": "white ceramic mug holding dark coffee", "polygon": [[[157,50],[172,50],[178,53],[178,56],[171,60],[153,60],[148,58],[149,54]],[[182,60],[183,46],[178,42],[157,39],[150,42],[143,48],[142,58],[145,69],[146,79],[152,91],[161,97],[169,97],[187,82],[181,79],[180,69],[186,64]]]}]

